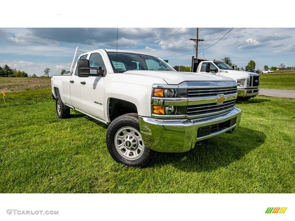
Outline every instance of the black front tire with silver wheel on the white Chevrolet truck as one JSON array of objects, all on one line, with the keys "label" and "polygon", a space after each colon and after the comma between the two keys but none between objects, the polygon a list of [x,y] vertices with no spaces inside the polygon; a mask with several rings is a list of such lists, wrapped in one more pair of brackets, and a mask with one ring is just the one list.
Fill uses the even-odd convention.
[{"label": "black front tire with silver wheel on the white Chevrolet truck", "polygon": [[110,123],[106,132],[106,146],[118,163],[140,168],[148,166],[156,154],[142,141],[136,113],[124,114]]}]

